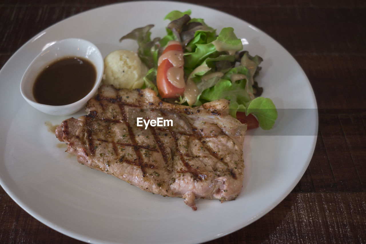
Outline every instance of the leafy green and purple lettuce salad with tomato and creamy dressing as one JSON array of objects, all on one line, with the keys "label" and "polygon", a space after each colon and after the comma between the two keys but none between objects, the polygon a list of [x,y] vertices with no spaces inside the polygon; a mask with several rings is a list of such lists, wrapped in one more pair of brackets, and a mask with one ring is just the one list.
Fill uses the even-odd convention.
[{"label": "leafy green and purple lettuce salad with tomato and creamy dressing", "polygon": [[[188,106],[227,99],[230,115],[247,123],[248,129],[258,125],[264,130],[271,129],[277,110],[271,99],[261,97],[263,88],[255,81],[262,58],[242,50],[242,41],[232,27],[225,27],[217,34],[203,19],[190,15],[190,10],[167,14],[164,20],[171,22],[166,27],[167,35],[161,38],[151,38],[154,25],[134,29],[120,38],[120,41],[137,41],[137,54],[149,68],[142,88],[153,89],[163,99],[175,97],[171,101]],[[178,68],[186,80],[185,89],[169,82],[167,69],[160,63],[159,57],[172,50],[182,52],[184,62]]]}]

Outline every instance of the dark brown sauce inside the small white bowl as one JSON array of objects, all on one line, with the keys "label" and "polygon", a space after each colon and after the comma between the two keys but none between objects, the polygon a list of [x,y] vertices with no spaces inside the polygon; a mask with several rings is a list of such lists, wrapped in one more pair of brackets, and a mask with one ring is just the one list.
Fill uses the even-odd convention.
[{"label": "dark brown sauce inside the small white bowl", "polygon": [[64,57],[41,71],[33,85],[33,96],[41,104],[71,104],[93,89],[96,78],[96,67],[89,60]]}]

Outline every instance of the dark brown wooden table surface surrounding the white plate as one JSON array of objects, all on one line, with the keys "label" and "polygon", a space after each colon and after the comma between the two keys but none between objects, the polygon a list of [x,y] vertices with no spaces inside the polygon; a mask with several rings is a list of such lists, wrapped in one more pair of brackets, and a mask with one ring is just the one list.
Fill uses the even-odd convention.
[{"label": "dark brown wooden table surface surrounding the white plate", "polygon": [[[107,0],[2,0],[0,67],[27,40]],[[308,169],[261,219],[210,243],[366,243],[366,1],[189,0],[268,33],[299,62],[319,107]],[[40,223],[0,188],[0,243],[79,243]]]}]

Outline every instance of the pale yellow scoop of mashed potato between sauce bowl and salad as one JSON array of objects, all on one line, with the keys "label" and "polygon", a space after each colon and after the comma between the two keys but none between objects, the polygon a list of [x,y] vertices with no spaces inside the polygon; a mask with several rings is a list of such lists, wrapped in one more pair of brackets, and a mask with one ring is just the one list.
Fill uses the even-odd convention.
[{"label": "pale yellow scoop of mashed potato between sauce bowl and salad", "polygon": [[111,84],[119,89],[141,88],[147,70],[137,53],[129,50],[116,50],[109,53],[104,59],[102,84]]}]

